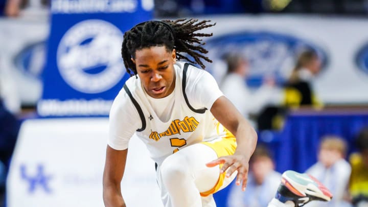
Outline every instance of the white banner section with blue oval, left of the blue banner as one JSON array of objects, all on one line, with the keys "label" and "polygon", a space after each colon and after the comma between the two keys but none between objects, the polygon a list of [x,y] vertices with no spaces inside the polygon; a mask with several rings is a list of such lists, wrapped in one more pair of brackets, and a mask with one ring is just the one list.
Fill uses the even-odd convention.
[{"label": "white banner section with blue oval, left of the blue banner", "polygon": [[[35,104],[42,94],[47,17],[0,18],[0,96],[12,112]],[[18,84],[21,83],[21,84]]]}]

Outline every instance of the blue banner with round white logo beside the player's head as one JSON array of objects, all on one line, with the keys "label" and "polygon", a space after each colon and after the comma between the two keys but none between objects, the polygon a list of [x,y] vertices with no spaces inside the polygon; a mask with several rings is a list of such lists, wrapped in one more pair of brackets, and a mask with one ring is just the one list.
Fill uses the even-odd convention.
[{"label": "blue banner with round white logo beside the player's head", "polygon": [[107,116],[129,77],[121,58],[123,34],[152,18],[152,0],[54,0],[42,117]]}]

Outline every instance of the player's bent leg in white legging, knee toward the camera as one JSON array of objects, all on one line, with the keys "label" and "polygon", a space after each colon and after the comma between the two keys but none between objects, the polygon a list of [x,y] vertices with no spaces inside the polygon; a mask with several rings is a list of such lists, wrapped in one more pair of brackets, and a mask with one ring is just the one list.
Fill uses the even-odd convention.
[{"label": "player's bent leg in white legging, knee toward the camera", "polygon": [[157,180],[162,182],[159,186],[163,187],[160,189],[169,195],[167,198],[165,192],[162,192],[165,207],[202,207],[200,193],[216,186],[220,171],[216,167],[208,168],[205,164],[216,158],[216,152],[203,144],[188,146],[167,157],[157,169]]}]

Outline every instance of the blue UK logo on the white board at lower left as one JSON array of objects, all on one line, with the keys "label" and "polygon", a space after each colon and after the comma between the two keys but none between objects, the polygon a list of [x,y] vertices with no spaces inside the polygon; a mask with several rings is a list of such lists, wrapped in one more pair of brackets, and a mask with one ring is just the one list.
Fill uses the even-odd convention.
[{"label": "blue UK logo on the white board at lower left", "polygon": [[45,193],[51,193],[52,190],[49,186],[49,182],[52,179],[50,174],[45,173],[44,166],[38,164],[35,173],[29,173],[26,165],[20,165],[21,179],[28,182],[28,192],[34,193],[36,190],[44,191]]}]

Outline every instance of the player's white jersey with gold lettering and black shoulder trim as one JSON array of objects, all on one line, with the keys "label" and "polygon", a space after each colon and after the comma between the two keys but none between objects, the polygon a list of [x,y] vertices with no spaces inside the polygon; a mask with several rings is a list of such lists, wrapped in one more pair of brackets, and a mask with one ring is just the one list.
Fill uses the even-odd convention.
[{"label": "player's white jersey with gold lettering and black shoulder trim", "polygon": [[126,81],[110,111],[111,148],[127,149],[136,133],[160,164],[183,147],[227,135],[209,110],[222,96],[215,79],[184,62],[177,61],[174,70],[173,93],[162,99],[149,97],[139,77]]}]

